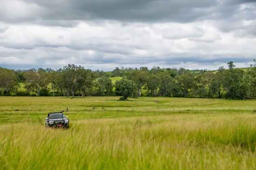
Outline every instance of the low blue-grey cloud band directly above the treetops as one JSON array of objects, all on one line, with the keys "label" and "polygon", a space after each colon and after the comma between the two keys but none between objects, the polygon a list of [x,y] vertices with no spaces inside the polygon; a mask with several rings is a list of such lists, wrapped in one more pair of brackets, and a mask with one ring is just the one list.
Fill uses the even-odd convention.
[{"label": "low blue-grey cloud band directly above the treetops", "polygon": [[[51,54],[53,55],[53,54]],[[56,55],[56,54],[54,54]],[[79,55],[79,53],[76,53],[76,55]],[[177,56],[177,55],[176,55]],[[119,60],[116,60],[116,56],[113,57],[103,57],[103,56],[97,56],[97,57],[81,57],[81,58],[76,58],[76,60],[71,59],[70,57],[65,56],[64,53],[62,53],[62,58],[57,59],[56,56],[48,56],[42,59],[38,59],[36,63],[32,64],[22,64],[22,63],[2,63],[0,62],[0,65],[3,67],[9,67],[9,68],[39,68],[39,67],[51,67],[51,68],[61,68],[67,63],[76,63],[80,65],[87,65],[89,64],[89,67],[87,65],[87,68],[94,68],[94,69],[104,69],[101,67],[102,64],[109,65],[111,69],[114,69],[115,66],[122,66],[122,65],[129,65],[130,67],[135,67],[136,65],[141,65],[141,66],[150,66],[150,65],[155,65],[155,66],[169,66],[173,67],[174,65],[181,65],[181,64],[189,64],[189,63],[194,63],[197,65],[205,65],[209,66],[209,68],[214,64],[214,63],[219,63],[223,66],[226,66],[226,63],[229,61],[234,61],[235,63],[245,63],[245,62],[252,62],[252,59],[250,58],[234,58],[232,56],[226,57],[223,59],[219,58],[213,58],[213,59],[208,59],[208,58],[202,58],[202,57],[159,57],[159,56],[146,56],[144,59],[142,58],[137,58],[136,56],[130,56],[129,58],[126,57],[118,57]],[[59,63],[58,61],[66,59],[67,63]],[[49,64],[51,63],[51,64]],[[55,63],[55,64],[53,64]],[[161,64],[160,64],[161,63]],[[198,67],[192,67],[194,69],[197,69]],[[218,67],[215,67],[217,69]]]}]

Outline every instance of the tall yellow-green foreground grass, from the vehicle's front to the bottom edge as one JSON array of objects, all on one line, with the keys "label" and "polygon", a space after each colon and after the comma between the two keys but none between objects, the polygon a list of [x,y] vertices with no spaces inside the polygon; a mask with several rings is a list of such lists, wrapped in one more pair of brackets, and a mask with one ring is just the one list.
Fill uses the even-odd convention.
[{"label": "tall yellow-green foreground grass, from the vehicle's front to the bottom edge", "polygon": [[0,126],[0,169],[255,169],[255,118],[95,119]]}]

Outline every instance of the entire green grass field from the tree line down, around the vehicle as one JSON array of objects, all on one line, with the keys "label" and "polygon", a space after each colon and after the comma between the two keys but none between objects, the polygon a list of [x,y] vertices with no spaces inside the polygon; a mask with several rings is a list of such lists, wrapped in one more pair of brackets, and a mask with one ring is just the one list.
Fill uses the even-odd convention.
[{"label": "entire green grass field from the tree line down, around the vehicle", "polygon": [[0,169],[256,169],[256,101],[118,98],[0,97]]}]

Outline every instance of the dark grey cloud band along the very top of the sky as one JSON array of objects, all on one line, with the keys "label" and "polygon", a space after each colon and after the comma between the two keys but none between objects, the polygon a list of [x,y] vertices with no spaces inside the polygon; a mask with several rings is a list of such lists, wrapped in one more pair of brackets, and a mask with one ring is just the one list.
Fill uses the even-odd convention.
[{"label": "dark grey cloud band along the very top of the sky", "polygon": [[[0,20],[8,23],[75,27],[81,20],[191,22],[225,18],[237,21],[256,17],[255,9],[240,10],[240,4],[254,5],[255,0],[23,0],[18,4],[15,2],[18,1],[0,2],[0,6],[3,4],[2,9],[0,7]],[[16,5],[11,6],[11,3]],[[17,5],[22,6],[23,10],[15,9]],[[11,12],[14,10],[15,13]]]}]

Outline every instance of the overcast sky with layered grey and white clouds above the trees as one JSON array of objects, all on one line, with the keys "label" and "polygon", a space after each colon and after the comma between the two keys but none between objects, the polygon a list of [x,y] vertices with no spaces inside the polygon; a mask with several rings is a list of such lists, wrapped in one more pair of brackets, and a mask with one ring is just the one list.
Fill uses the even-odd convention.
[{"label": "overcast sky with layered grey and white clouds above the trees", "polygon": [[0,67],[213,70],[255,48],[256,0],[0,0]]}]

